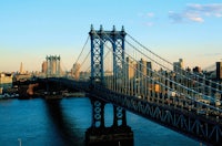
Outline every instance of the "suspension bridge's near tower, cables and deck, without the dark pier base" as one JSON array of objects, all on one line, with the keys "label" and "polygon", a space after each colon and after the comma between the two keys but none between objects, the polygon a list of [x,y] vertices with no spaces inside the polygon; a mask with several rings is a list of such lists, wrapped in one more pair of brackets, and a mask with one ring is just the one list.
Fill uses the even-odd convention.
[{"label": "suspension bridge's near tower, cables and deck, without the dark pier base", "polygon": [[84,75],[48,80],[89,95],[93,132],[104,126],[104,104],[112,103],[115,126],[127,125],[130,111],[204,144],[222,144],[222,84],[161,58],[123,27],[91,25],[75,63]]}]

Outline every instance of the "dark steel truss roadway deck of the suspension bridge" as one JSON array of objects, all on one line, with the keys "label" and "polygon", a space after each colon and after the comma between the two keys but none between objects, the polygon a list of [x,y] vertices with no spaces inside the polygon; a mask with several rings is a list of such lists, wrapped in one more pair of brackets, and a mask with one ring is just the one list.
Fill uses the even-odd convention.
[{"label": "dark steel truss roadway deck of the suspension bridge", "polygon": [[165,102],[167,100],[163,97],[139,98],[120,94],[99,84],[92,85],[89,81],[80,82],[65,77],[51,77],[48,80],[124,107],[130,112],[206,145],[222,144],[222,113],[210,111],[209,114],[200,114],[196,107],[179,105],[173,101]]}]

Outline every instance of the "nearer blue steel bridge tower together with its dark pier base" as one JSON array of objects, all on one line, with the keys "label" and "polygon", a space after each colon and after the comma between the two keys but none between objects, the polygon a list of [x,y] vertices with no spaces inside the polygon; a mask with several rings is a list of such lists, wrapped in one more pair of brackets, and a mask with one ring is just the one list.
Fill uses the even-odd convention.
[{"label": "nearer blue steel bridge tower together with its dark pier base", "polygon": [[[104,85],[104,43],[109,41],[112,44],[113,54],[113,77],[115,80],[124,79],[124,39],[127,33],[122,27],[121,31],[117,31],[113,25],[112,31],[104,31],[102,25],[100,30],[94,30],[91,25],[89,32],[91,39],[91,85]],[[95,85],[97,84],[97,85]],[[93,91],[92,91],[93,92]],[[94,93],[94,92],[93,92]],[[104,106],[105,102],[90,97],[92,105],[92,125],[85,132],[87,145],[133,145],[133,133],[127,125],[125,109],[113,105],[113,124],[105,127],[104,124]],[[105,137],[105,138],[104,138]],[[118,138],[117,138],[118,137]],[[99,142],[100,139],[100,142]]]}]

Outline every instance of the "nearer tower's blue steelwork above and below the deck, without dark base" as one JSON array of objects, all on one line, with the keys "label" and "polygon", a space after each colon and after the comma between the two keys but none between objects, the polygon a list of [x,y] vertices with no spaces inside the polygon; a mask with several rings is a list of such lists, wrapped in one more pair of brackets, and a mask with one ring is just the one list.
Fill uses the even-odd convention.
[{"label": "nearer tower's blue steelwork above and below the deck, without dark base", "polygon": [[[110,42],[113,51],[113,76],[115,79],[123,77],[123,60],[124,60],[124,28],[121,31],[117,31],[113,25],[112,31],[104,31],[102,25],[100,30],[94,30],[91,25],[89,32],[91,39],[91,85],[95,84],[104,85],[104,43]],[[98,100],[97,96],[91,94],[92,104],[92,126],[88,131],[88,135],[93,134],[95,129],[104,129],[104,105],[107,102]],[[120,106],[113,106],[113,126],[112,128],[123,127],[125,132],[132,137],[131,129],[127,126],[125,109]],[[102,128],[102,129],[101,129]],[[100,132],[101,133],[101,132]],[[127,134],[127,135],[129,135]],[[125,134],[124,134],[125,135]],[[88,136],[90,137],[90,136]]]}]

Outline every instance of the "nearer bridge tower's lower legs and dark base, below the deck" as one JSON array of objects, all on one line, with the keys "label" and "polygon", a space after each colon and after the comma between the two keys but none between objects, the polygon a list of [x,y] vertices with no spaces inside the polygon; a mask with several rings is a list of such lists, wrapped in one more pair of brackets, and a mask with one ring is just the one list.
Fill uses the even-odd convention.
[{"label": "nearer bridge tower's lower legs and dark base, below the deck", "polygon": [[113,105],[113,125],[104,126],[103,101],[91,97],[92,125],[85,132],[87,146],[133,146],[133,132],[127,125],[125,111]]}]

